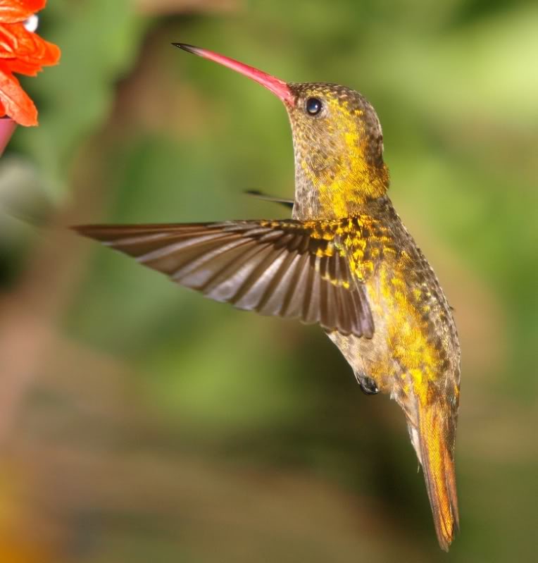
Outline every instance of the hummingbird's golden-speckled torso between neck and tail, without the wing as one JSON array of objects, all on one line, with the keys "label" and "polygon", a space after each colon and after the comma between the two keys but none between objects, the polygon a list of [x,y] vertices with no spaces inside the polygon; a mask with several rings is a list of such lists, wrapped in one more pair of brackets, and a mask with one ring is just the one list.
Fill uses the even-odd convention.
[{"label": "hummingbird's golden-speckled torso between neck and tail, without the wing", "polygon": [[357,376],[373,378],[402,407],[459,393],[460,349],[446,297],[430,264],[388,198],[372,204],[360,259],[349,259],[365,285],[373,338],[330,333]]}]

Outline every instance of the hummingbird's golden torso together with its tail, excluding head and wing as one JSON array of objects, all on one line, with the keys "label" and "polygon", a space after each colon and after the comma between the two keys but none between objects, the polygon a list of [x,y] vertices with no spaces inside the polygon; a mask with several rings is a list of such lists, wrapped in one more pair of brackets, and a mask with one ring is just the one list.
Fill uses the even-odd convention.
[{"label": "hummingbird's golden torso together with its tail, excluding head and wing", "polygon": [[[294,215],[301,211],[294,208]],[[335,232],[339,252],[365,290],[373,334],[327,334],[363,391],[387,392],[403,409],[439,545],[448,550],[459,526],[454,447],[460,347],[451,308],[387,196],[339,219]]]}]

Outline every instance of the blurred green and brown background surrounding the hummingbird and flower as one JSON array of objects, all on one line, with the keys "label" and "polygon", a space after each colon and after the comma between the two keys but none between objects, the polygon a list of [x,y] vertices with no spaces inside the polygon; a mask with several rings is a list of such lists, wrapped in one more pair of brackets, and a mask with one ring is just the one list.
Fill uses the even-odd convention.
[{"label": "blurred green and brown background surrounding the hummingbird and flower", "polygon": [[[532,1],[51,0],[63,58],[0,161],[0,561],[535,561],[537,29]],[[399,408],[323,331],[63,229],[287,216],[242,193],[292,197],[280,102],[173,41],[377,109],[461,335],[448,555]]]}]

